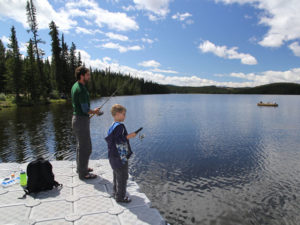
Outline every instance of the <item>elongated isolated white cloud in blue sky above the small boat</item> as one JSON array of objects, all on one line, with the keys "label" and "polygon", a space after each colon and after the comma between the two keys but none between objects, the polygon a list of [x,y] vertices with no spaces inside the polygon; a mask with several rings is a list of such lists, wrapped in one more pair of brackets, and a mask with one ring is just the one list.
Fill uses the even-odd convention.
[{"label": "elongated isolated white cloud in blue sky above the small boat", "polygon": [[204,41],[198,48],[203,52],[211,52],[216,56],[225,59],[240,59],[242,64],[255,65],[257,64],[256,59],[250,54],[238,53],[238,47],[228,48],[227,46],[216,46],[210,41]]}]

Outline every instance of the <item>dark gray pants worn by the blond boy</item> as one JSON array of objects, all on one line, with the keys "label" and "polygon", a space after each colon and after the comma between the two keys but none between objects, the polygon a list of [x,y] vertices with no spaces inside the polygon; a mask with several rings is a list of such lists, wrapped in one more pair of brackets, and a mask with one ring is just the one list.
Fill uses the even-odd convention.
[{"label": "dark gray pants worn by the blond boy", "polygon": [[126,195],[126,186],[128,180],[128,162],[119,169],[113,170],[113,190],[116,194],[116,200],[121,201]]}]

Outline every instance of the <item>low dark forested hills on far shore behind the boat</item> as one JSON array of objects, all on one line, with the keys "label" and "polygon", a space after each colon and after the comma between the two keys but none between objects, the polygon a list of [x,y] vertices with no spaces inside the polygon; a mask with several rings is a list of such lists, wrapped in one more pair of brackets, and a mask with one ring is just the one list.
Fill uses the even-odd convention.
[{"label": "low dark forested hills on far shore behind the boat", "polygon": [[203,94],[280,94],[300,95],[300,84],[273,83],[248,88],[228,88],[216,86],[181,87],[166,85],[169,93],[203,93]]}]

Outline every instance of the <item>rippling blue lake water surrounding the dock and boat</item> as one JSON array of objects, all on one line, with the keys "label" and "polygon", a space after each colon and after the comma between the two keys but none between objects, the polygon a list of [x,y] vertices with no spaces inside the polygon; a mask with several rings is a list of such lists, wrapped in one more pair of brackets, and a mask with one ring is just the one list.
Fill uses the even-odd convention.
[{"label": "rippling blue lake water surrounding the dock and boat", "polygon": [[[300,223],[299,96],[114,97],[91,119],[92,159],[107,158],[115,103],[127,108],[129,132],[144,127],[130,173],[169,223]],[[71,113],[69,104],[0,111],[0,162],[74,160]]]}]

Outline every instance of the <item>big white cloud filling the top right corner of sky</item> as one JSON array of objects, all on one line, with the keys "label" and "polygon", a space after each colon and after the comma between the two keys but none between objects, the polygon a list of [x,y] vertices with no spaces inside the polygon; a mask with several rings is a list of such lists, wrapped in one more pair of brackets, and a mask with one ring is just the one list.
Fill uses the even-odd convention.
[{"label": "big white cloud filling the top right corner of sky", "polygon": [[215,0],[225,4],[250,4],[263,10],[260,24],[269,27],[259,42],[264,47],[280,47],[284,42],[300,38],[299,0]]}]

